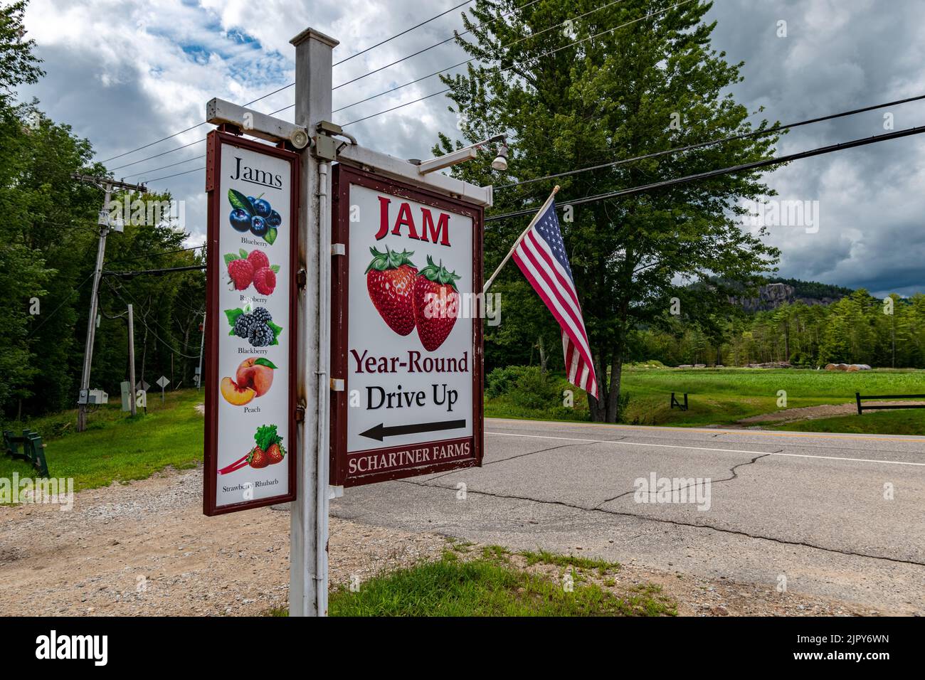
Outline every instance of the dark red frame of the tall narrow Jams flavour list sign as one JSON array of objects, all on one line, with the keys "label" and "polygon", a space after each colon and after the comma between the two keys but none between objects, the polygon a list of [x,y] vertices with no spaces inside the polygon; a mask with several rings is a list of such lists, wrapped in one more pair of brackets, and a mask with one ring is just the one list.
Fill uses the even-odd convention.
[{"label": "dark red frame of the tall narrow Jams flavour list sign", "polygon": [[[222,196],[217,191],[221,183],[217,173],[222,165],[222,144],[238,146],[257,154],[270,155],[290,163],[290,376],[289,376],[289,492],[269,498],[254,501],[242,501],[228,505],[216,505],[216,488],[218,476],[218,383],[213,379],[218,375],[218,332],[221,321],[218,309],[218,286],[221,279],[219,265],[222,256],[218,249],[219,220],[224,214],[222,210]],[[208,301],[205,309],[205,328],[208,337],[205,342],[205,357],[203,358],[204,375],[200,377],[200,384],[205,385],[205,441],[203,464],[203,514],[214,516],[217,514],[236,513],[240,510],[251,510],[266,505],[275,505],[295,501],[297,490],[296,471],[296,361],[298,359],[298,287],[296,285],[296,272],[299,266],[299,167],[301,157],[286,149],[270,146],[262,142],[244,139],[237,135],[212,130],[206,135],[206,163],[205,163],[205,191],[207,198],[206,217],[206,248],[205,248],[205,299]]]}]

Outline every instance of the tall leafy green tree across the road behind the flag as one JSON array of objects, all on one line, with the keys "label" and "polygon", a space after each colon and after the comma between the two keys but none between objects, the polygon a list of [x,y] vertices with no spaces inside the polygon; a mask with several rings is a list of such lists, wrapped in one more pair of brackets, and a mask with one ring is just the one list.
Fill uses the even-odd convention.
[{"label": "tall leafy green tree across the road behind the flag", "polygon": [[[674,4],[624,0],[601,7],[591,0],[539,0],[518,9],[524,4],[477,0],[464,19],[472,40],[459,42],[478,65],[443,80],[462,136],[476,142],[505,132],[512,157],[500,179],[489,174],[487,163],[455,167],[455,175],[503,185],[752,130],[746,108],[723,94],[741,80],[741,64],[728,63],[711,48],[715,23],[702,21],[711,4]],[[737,140],[499,186],[496,210],[536,208],[555,182],[561,183],[563,202],[759,160],[769,157],[774,142],[773,136]],[[453,148],[441,135],[435,152]],[[685,284],[707,279],[752,284],[772,271],[777,251],[737,219],[743,199],[770,193],[758,173],[738,173],[575,206],[572,221],[563,216],[601,388],[599,401],[588,396],[594,420],[616,421],[631,331],[657,321],[672,297],[684,305],[690,292]],[[487,268],[523,227],[523,220],[491,224]],[[514,267],[502,274],[518,275]],[[697,295],[686,303],[714,310],[728,303],[721,284]]]}]

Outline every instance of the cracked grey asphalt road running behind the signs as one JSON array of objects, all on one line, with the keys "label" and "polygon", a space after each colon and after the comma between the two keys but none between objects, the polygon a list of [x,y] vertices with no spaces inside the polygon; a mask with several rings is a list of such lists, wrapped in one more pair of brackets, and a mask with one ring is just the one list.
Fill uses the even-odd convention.
[{"label": "cracked grey asphalt road running behind the signs", "polygon": [[[481,468],[348,488],[331,512],[925,615],[925,437],[489,419],[485,444]],[[653,473],[688,502],[642,493]]]}]

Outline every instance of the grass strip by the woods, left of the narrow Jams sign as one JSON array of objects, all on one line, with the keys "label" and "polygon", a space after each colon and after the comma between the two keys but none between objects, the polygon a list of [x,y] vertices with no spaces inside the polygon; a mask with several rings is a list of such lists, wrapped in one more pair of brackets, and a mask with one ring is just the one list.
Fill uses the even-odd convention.
[{"label": "grass strip by the woods, left of the narrow Jams sign", "polygon": [[[195,467],[203,460],[203,416],[193,406],[203,392],[182,389],[167,392],[162,405],[152,393],[148,413],[134,418],[107,404],[90,414],[87,430],[76,433],[77,411],[36,418],[29,423],[5,423],[4,429],[23,427],[42,435],[48,471],[55,477],[73,477],[74,489],[97,488],[113,481],[145,479],[167,466]],[[30,465],[0,455],[0,477],[34,476]]]}]

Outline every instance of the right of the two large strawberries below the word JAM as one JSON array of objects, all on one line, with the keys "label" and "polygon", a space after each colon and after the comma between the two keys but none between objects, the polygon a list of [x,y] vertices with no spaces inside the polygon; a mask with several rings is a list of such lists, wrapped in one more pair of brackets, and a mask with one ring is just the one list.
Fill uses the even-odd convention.
[{"label": "right of the two large strawberries below the word JAM", "polygon": [[450,335],[460,311],[456,272],[447,271],[427,255],[427,266],[414,278],[414,321],[417,336],[427,352],[433,352]]}]

